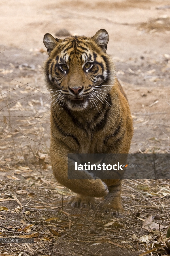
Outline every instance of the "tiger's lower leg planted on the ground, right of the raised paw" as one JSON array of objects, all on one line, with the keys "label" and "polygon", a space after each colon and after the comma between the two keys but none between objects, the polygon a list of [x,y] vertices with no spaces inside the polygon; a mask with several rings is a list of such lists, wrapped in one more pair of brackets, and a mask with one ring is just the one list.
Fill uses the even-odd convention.
[{"label": "tiger's lower leg planted on the ground, right of the raised paw", "polygon": [[119,180],[108,189],[109,193],[105,196],[103,206],[105,207],[105,212],[114,212],[117,216],[120,212],[124,212],[121,202],[121,181]]}]

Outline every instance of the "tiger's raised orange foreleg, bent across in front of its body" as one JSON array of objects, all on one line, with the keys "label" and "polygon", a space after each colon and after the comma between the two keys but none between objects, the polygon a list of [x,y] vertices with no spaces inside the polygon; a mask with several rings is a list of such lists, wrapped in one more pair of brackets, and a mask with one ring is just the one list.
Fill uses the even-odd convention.
[{"label": "tiger's raised orange foreleg, bent across in front of its body", "polygon": [[73,166],[70,171],[77,179],[68,179],[67,155],[70,152],[63,145],[52,141],[50,153],[53,174],[60,184],[83,196],[102,197],[108,194],[107,185],[101,179],[94,179],[88,171],[81,172]]}]

